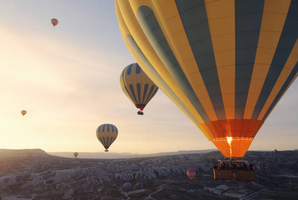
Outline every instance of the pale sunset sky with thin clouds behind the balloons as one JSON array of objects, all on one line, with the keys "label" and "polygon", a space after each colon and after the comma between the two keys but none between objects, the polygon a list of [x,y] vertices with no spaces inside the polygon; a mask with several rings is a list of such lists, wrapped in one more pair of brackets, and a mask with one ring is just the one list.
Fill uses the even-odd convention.
[{"label": "pale sunset sky with thin clouds behind the balloons", "polygon": [[[136,62],[113,0],[0,0],[0,148],[100,152],[96,128],[115,125],[111,152],[216,148],[159,90],[137,109],[119,85]],[[51,18],[57,18],[56,27]],[[249,150],[298,148],[298,81]],[[27,110],[23,117],[22,109]]]}]

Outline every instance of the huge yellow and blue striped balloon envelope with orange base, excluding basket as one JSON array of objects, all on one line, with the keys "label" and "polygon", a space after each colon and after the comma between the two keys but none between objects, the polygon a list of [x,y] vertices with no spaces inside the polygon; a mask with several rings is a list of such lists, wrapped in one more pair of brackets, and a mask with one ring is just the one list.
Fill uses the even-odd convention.
[{"label": "huge yellow and blue striped balloon envelope with orange base, excluding basket", "polygon": [[226,157],[298,75],[298,0],[115,0],[142,70]]}]

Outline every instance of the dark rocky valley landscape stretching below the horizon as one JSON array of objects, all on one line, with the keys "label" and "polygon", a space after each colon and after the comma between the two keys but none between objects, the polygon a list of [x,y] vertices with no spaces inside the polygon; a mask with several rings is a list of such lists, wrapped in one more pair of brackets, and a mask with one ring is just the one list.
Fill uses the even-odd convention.
[{"label": "dark rocky valley landscape stretching below the horizon", "polygon": [[[49,195],[52,200],[297,200],[298,151],[248,151],[243,159],[258,166],[256,182],[214,180],[212,164],[222,158],[219,151],[182,152],[75,159],[49,155],[41,149],[0,149],[0,196],[2,200],[46,200]],[[190,168],[196,171],[193,180],[186,176]],[[122,179],[116,180],[119,173]],[[22,176],[20,182],[14,179],[17,175]],[[5,176],[11,177],[7,183]],[[55,181],[50,191],[44,185],[47,179]],[[128,193],[123,190],[125,182],[132,184]]]}]

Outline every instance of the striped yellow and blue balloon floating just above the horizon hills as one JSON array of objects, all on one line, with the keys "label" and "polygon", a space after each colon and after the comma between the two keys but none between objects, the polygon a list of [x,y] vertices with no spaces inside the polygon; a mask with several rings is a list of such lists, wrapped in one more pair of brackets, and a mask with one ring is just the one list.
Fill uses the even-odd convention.
[{"label": "striped yellow and blue balloon floating just above the horizon hills", "polygon": [[102,124],[96,129],[96,136],[99,142],[105,147],[105,151],[116,140],[118,136],[118,129],[112,124]]}]

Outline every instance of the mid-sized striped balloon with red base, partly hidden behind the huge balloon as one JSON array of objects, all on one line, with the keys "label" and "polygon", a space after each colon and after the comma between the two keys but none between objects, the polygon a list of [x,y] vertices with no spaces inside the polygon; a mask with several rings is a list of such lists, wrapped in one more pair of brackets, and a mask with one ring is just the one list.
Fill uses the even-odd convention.
[{"label": "mid-sized striped balloon with red base, partly hidden behind the huge balloon", "polygon": [[125,67],[120,75],[120,86],[126,96],[135,105],[138,114],[143,115],[143,109],[158,91],[158,87],[143,72],[138,63]]}]

